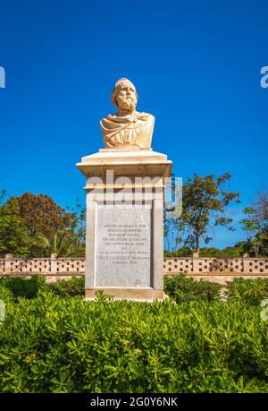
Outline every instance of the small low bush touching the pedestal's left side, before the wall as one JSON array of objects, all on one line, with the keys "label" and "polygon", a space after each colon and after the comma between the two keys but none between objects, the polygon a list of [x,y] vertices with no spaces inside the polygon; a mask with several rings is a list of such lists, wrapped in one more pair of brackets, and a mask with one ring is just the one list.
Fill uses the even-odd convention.
[{"label": "small low bush touching the pedestal's left side, before the wall", "polygon": [[66,297],[68,295],[85,295],[85,277],[62,279],[48,286],[56,295]]}]

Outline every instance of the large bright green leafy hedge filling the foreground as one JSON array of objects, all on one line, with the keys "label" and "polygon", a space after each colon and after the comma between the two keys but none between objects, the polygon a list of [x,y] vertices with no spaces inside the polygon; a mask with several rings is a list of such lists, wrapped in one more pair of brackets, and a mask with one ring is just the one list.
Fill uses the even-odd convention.
[{"label": "large bright green leafy hedge filling the foreground", "polygon": [[0,327],[1,392],[268,392],[267,322],[241,302],[40,291]]}]

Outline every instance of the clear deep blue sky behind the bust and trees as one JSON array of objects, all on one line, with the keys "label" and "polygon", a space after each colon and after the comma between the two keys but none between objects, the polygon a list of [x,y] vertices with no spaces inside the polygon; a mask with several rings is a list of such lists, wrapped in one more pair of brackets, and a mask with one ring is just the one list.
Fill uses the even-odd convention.
[{"label": "clear deep blue sky behind the bust and trees", "polygon": [[[5,1],[1,4],[0,184],[84,204],[80,158],[128,77],[155,115],[153,149],[184,179],[229,171],[242,204],[267,186],[267,1]],[[237,227],[239,225],[237,224]],[[212,245],[244,235],[215,230]]]}]

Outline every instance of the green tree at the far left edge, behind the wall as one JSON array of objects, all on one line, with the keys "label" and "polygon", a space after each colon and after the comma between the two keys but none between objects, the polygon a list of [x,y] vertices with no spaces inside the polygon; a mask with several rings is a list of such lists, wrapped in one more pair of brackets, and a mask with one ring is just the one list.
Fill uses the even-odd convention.
[{"label": "green tree at the far left edge, behind the wall", "polygon": [[29,255],[29,230],[18,215],[18,204],[9,201],[0,207],[0,255]]}]

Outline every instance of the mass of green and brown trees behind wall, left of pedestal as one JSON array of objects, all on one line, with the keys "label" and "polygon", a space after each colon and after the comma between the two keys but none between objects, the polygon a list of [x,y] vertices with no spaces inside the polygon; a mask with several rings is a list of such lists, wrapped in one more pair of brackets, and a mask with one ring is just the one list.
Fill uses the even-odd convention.
[{"label": "mass of green and brown trees behind wall, left of pedestal", "polygon": [[65,210],[45,194],[24,193],[4,201],[0,192],[0,257],[85,255],[85,210]]}]

